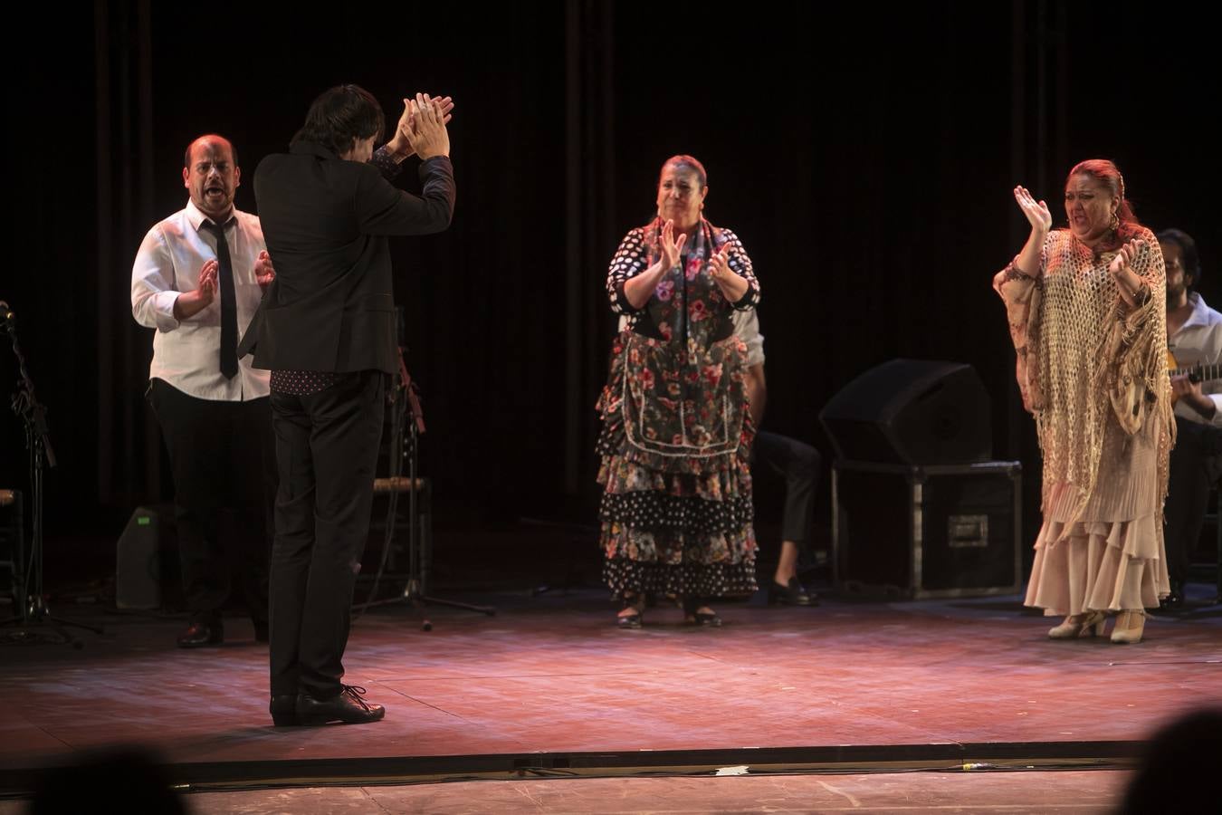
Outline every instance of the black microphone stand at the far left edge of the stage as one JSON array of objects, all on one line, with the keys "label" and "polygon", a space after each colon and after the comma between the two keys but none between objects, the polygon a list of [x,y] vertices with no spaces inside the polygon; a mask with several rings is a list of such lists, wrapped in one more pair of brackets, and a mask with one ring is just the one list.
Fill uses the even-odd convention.
[{"label": "black microphone stand at the far left edge of the stage", "polygon": [[[21,606],[20,613],[5,621],[6,623],[18,623],[27,627],[31,623],[51,622],[56,627],[75,626],[100,634],[101,629],[84,623],[61,619],[51,616],[46,607],[46,598],[43,594],[43,470],[54,468],[56,464],[55,450],[51,447],[51,437],[46,430],[46,407],[38,401],[34,395],[34,381],[29,378],[26,368],[26,356],[21,352],[17,342],[17,319],[9,309],[9,304],[0,301],[0,319],[4,320],[5,330],[12,341],[12,353],[17,358],[17,371],[20,379],[17,391],[12,395],[12,412],[22,418],[26,425],[26,450],[29,451],[29,486],[31,510],[33,514],[33,529],[29,541],[29,561],[24,565],[24,574],[13,576],[15,585],[20,582],[20,589],[13,591],[15,599]],[[24,541],[16,541],[17,547],[24,547]],[[17,562],[21,563],[18,557]],[[64,637],[61,641],[72,643],[73,648],[82,648],[82,643],[70,637],[66,632],[60,632]],[[15,632],[5,638],[5,641],[29,641],[39,640],[39,637],[29,630]]]}]

